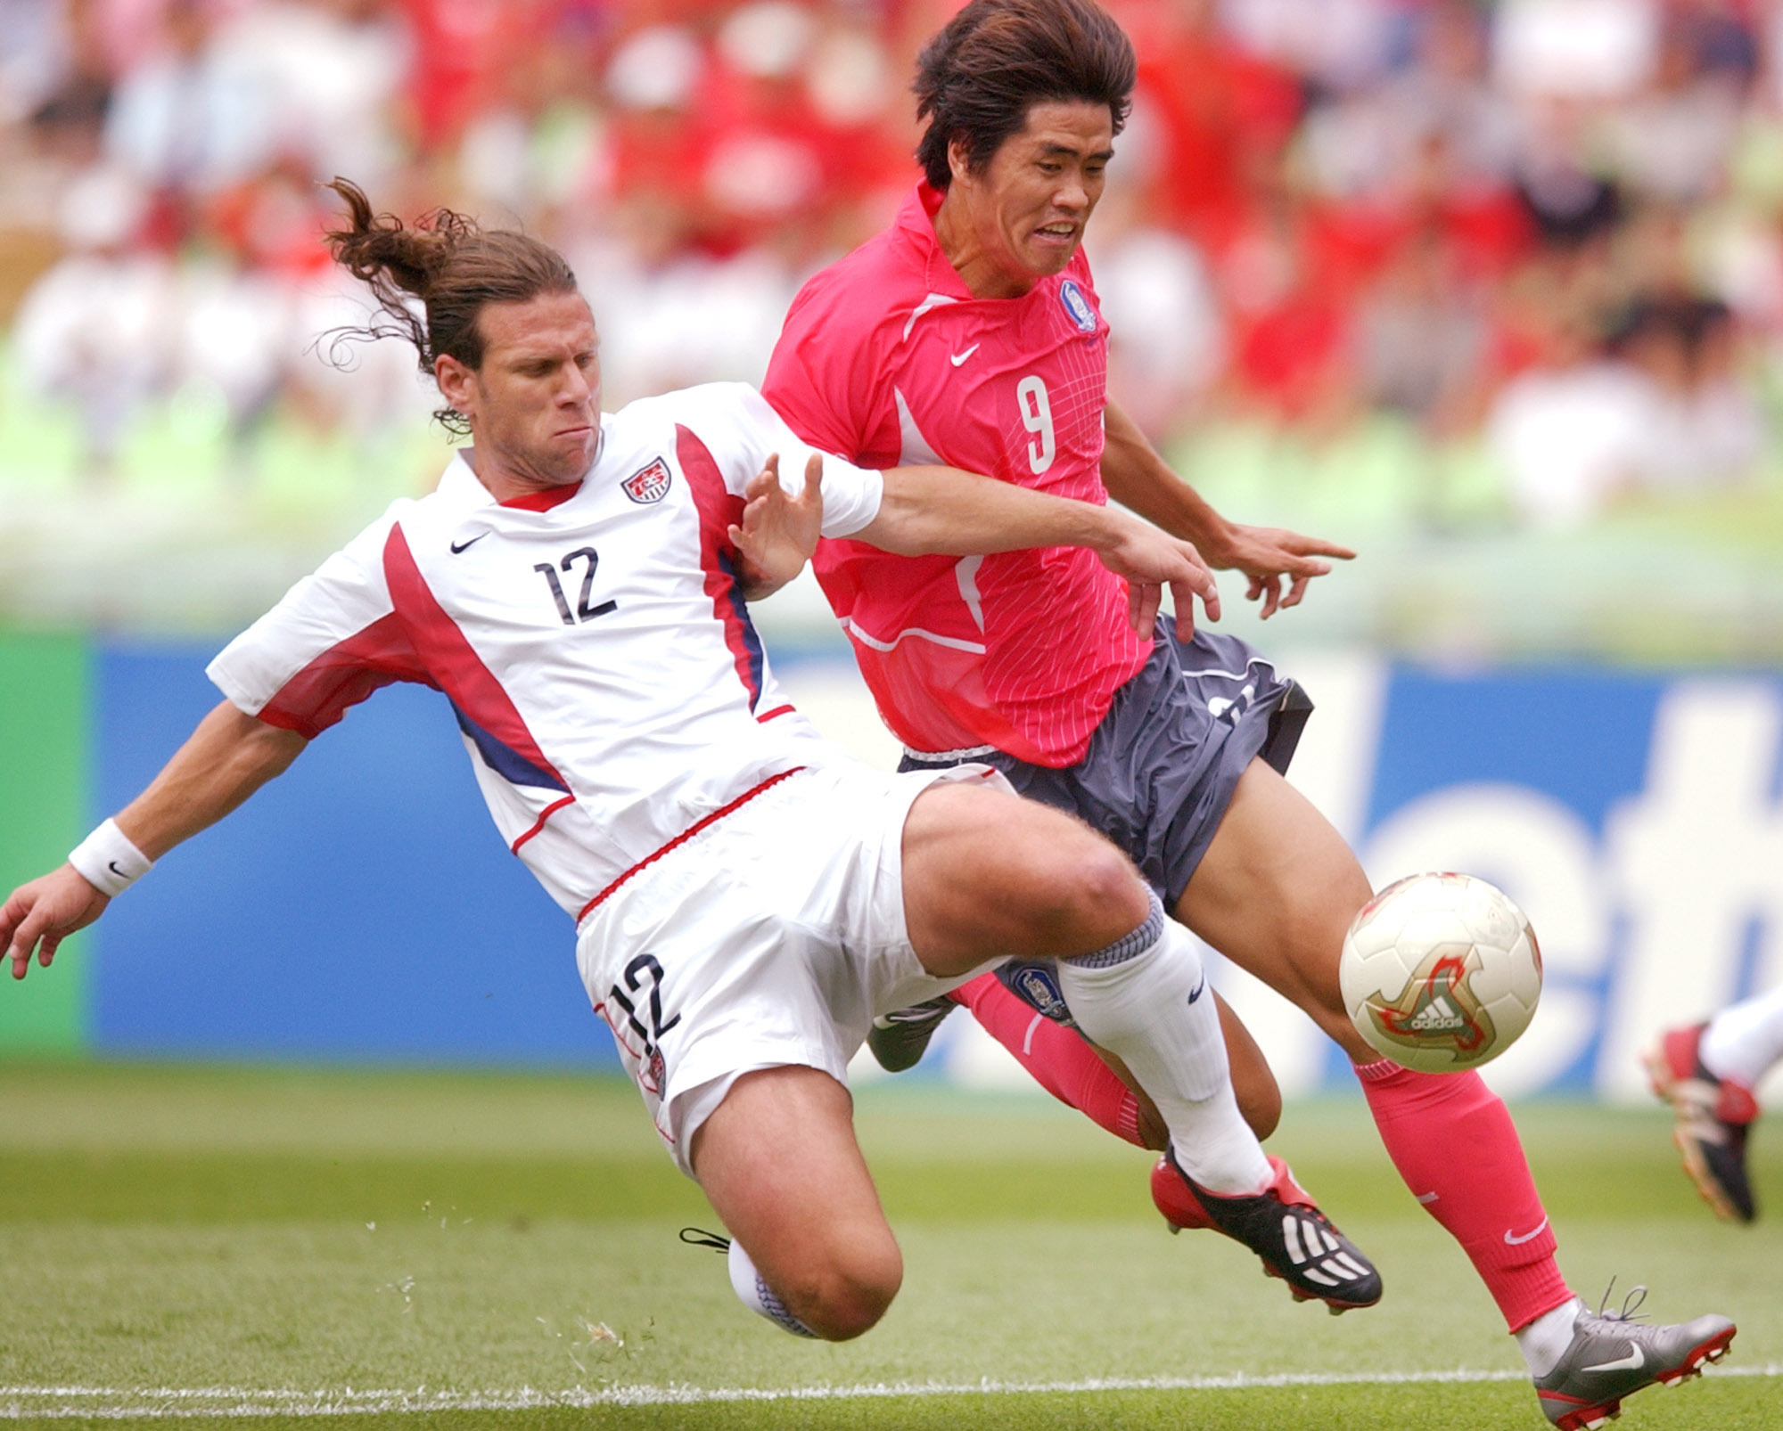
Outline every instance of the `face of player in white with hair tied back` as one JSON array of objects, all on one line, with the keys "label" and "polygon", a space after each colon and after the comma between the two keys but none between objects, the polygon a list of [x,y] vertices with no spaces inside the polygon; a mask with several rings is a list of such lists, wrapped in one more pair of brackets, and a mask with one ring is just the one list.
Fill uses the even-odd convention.
[{"label": "face of player in white with hair tied back", "polygon": [[478,470],[524,487],[579,481],[601,442],[601,358],[581,294],[489,303],[478,314],[483,365],[433,365],[446,401],[471,419]]}]

